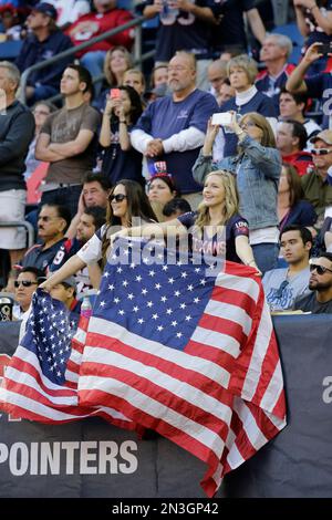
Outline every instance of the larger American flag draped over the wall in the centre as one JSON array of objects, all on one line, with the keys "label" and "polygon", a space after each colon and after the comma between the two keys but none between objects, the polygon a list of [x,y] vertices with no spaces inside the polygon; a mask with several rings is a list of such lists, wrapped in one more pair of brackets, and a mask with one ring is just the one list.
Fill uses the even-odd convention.
[{"label": "larger American flag draped over the wall in the centre", "polygon": [[[81,360],[84,406],[112,406],[208,465],[211,497],[286,425],[271,318],[252,269],[218,275],[120,240],[104,271]],[[134,253],[135,252],[135,253]],[[167,253],[168,261],[165,261]],[[153,258],[154,257],[154,258]],[[158,261],[156,261],[158,260]]]}]

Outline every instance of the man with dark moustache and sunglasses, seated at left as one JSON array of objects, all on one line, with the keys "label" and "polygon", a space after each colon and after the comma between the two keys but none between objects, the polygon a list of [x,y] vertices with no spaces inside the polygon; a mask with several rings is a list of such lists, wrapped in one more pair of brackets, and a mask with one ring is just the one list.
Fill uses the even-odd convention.
[{"label": "man with dark moustache and sunglasses, seated at left", "polygon": [[23,268],[33,266],[46,272],[46,268],[51,266],[58,250],[65,240],[64,233],[70,222],[70,211],[65,206],[56,204],[43,205],[38,218],[38,238],[40,243],[35,243],[25,252],[21,266]]}]

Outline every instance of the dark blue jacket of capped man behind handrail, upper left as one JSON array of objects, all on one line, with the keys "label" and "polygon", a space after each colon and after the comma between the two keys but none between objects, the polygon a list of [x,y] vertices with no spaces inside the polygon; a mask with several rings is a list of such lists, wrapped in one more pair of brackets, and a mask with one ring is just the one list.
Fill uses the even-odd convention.
[{"label": "dark blue jacket of capped man behind handrail, upper left", "polygon": [[[69,37],[56,30],[52,32],[46,40],[40,42],[34,34],[28,37],[23,43],[20,55],[15,60],[17,66],[20,72],[25,71],[31,65],[40,63],[41,61],[49,60],[60,52],[66,51],[73,46],[72,41]],[[45,66],[40,71],[32,72],[28,77],[28,85],[50,85],[54,89],[59,89],[61,75],[70,63],[72,63],[74,56],[69,56],[53,63],[50,66]]]}]

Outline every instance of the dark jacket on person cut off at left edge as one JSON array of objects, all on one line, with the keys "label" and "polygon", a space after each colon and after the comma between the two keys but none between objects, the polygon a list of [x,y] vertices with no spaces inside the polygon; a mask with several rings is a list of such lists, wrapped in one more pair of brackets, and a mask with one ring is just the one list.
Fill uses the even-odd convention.
[{"label": "dark jacket on person cut off at left edge", "polygon": [[25,189],[24,159],[34,135],[34,117],[19,101],[0,113],[0,191]]}]

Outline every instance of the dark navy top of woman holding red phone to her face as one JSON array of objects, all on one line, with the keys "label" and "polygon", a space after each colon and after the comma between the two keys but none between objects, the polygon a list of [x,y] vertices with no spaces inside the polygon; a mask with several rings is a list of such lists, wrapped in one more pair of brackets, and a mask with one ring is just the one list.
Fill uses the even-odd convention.
[{"label": "dark navy top of woman holding red phone to her face", "polygon": [[[131,133],[132,128],[132,126],[127,127],[128,133]],[[136,180],[144,186],[145,180],[142,176],[143,155],[135,148],[125,152],[121,149],[118,142],[118,122],[111,123],[111,145],[104,148],[103,174],[107,177],[112,186],[122,179]]]}]

